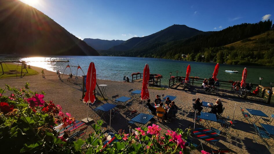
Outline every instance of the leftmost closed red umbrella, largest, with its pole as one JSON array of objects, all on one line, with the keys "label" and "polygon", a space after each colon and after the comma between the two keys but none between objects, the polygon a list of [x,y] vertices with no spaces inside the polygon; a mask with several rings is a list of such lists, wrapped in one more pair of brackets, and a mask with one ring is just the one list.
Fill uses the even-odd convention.
[{"label": "leftmost closed red umbrella, largest, with its pole", "polygon": [[[89,103],[93,104],[95,102],[95,96],[94,96],[94,89],[96,86],[96,69],[93,62],[89,64],[89,68],[87,71],[87,80],[86,80],[86,89],[87,92],[85,94],[85,97],[83,98],[83,102],[87,103],[87,107],[89,107]],[[88,118],[88,110],[87,110],[87,121],[89,121]]]}]

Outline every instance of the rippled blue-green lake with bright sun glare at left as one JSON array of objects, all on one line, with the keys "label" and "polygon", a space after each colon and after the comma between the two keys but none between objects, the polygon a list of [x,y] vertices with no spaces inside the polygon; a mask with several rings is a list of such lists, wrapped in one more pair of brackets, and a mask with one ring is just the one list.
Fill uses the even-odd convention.
[{"label": "rippled blue-green lake with bright sun glare at left", "polygon": [[[64,62],[45,62],[45,60],[69,60],[69,63]],[[212,77],[216,63],[202,63],[181,60],[157,59],[157,58],[139,58],[139,57],[115,57],[115,56],[53,56],[53,57],[18,57],[14,55],[0,55],[0,60],[25,60],[28,65],[42,67],[50,71],[60,70],[61,73],[65,70],[67,64],[71,66],[80,65],[86,74],[90,62],[94,62],[96,67],[97,78],[104,80],[122,81],[123,76],[128,76],[131,80],[131,73],[143,73],[145,64],[149,65],[150,74],[161,74],[162,85],[168,85],[170,77],[176,76],[176,70],[179,71],[178,76],[185,76],[187,65],[191,65],[190,76],[198,76],[200,78]],[[4,64],[3,64],[4,65]],[[246,82],[253,84],[260,83],[260,76],[264,77],[262,85],[270,87],[270,82],[274,81],[274,68],[264,66],[243,66],[243,65],[227,65],[220,64],[217,78],[219,80],[242,80],[242,71],[247,68]],[[238,74],[230,74],[225,70],[237,70]],[[76,74],[77,67],[71,67],[72,74]],[[67,68],[65,74],[70,73]],[[83,75],[81,70],[78,70],[78,76]],[[57,76],[56,76],[57,78]]]}]

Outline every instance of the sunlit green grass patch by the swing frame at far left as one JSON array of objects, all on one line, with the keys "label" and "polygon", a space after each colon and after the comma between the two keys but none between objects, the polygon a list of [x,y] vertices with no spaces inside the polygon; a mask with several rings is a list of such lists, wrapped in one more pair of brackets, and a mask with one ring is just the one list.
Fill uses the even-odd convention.
[{"label": "sunlit green grass patch by the swing frame at far left", "polygon": [[[21,69],[22,69],[22,65],[19,64],[18,67],[17,65],[14,64],[5,64],[2,63],[3,65],[3,70],[5,74],[2,74],[2,68],[0,66],[0,78],[9,78],[9,77],[21,77]],[[15,70],[15,71],[10,71],[10,70]],[[23,69],[23,73],[22,76],[27,76],[27,75],[36,75],[39,74],[37,71],[33,70],[33,69],[28,69],[28,73],[26,71],[26,69]]]}]

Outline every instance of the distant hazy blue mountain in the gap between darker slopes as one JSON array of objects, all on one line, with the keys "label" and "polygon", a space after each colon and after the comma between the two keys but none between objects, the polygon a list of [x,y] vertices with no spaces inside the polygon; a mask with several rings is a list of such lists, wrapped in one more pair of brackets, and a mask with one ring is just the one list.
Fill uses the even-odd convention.
[{"label": "distant hazy blue mountain in the gap between darker slopes", "polygon": [[107,50],[115,45],[124,43],[123,40],[101,40],[101,39],[83,39],[89,46],[96,50]]}]

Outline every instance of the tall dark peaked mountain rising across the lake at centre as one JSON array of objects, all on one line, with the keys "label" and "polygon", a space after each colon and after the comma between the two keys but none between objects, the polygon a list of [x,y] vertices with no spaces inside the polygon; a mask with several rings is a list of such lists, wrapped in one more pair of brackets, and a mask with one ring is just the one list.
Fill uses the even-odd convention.
[{"label": "tall dark peaked mountain rising across the lake at centre", "polygon": [[204,32],[187,27],[186,25],[172,25],[149,36],[131,38],[120,45],[110,48],[108,51],[126,51],[155,45],[158,46],[159,44],[163,45],[170,41],[187,39],[202,33]]}]

